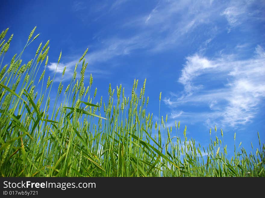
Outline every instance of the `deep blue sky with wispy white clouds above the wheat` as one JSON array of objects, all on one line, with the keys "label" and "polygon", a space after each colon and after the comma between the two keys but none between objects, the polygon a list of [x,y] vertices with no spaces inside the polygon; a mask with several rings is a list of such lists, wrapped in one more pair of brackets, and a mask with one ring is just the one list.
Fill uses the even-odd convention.
[{"label": "deep blue sky with wispy white clouds above the wheat", "polygon": [[41,34],[23,58],[30,60],[39,42],[50,40],[49,72],[62,50],[55,80],[66,65],[65,84],[88,47],[86,76],[89,81],[92,73],[98,99],[108,99],[109,83],[122,84],[129,96],[133,80],[142,85],[147,78],[147,111],[156,120],[162,92],[167,126],[180,121],[188,138],[207,146],[209,129],[217,125],[233,153],[234,133],[236,145],[248,150],[250,142],[258,147],[257,131],[265,141],[264,10],[264,1],[255,0],[5,1],[0,31],[14,33],[8,62],[37,26]]}]

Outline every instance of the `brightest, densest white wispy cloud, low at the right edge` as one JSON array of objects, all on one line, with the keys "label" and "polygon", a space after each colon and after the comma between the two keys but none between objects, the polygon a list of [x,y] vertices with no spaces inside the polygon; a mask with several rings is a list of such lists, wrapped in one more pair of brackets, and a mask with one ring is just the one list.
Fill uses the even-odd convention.
[{"label": "brightest, densest white wispy cloud, low at the right edge", "polygon": [[238,60],[237,54],[211,60],[194,54],[186,59],[178,80],[183,93],[171,94],[164,102],[175,108],[193,106],[195,111],[176,110],[172,118],[181,113],[187,119],[199,117],[231,126],[253,120],[265,98],[265,52],[261,46],[249,59]]}]

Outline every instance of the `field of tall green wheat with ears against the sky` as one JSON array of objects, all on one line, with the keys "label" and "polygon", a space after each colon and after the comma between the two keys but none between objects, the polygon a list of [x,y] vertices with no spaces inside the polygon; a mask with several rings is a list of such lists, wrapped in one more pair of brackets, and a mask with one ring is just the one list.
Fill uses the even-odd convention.
[{"label": "field of tall green wheat with ears against the sky", "polygon": [[[209,131],[209,146],[196,147],[195,140],[186,137],[186,126],[179,130],[180,122],[167,127],[167,115],[159,115],[159,121],[153,122],[153,114],[147,111],[146,79],[142,87],[134,80],[127,98],[122,85],[113,89],[110,84],[107,102],[102,97],[95,101],[92,75],[89,82],[84,80],[89,79],[84,58],[88,49],[76,63],[70,84],[61,81],[51,103],[55,74],[45,72],[49,41],[39,44],[33,59],[21,59],[39,36],[33,37],[35,29],[22,52],[7,65],[2,63],[13,35],[5,38],[8,29],[0,35],[1,177],[265,176],[265,145],[260,143],[259,133],[259,148],[249,142],[252,151],[247,153],[234,145],[231,158],[223,144],[223,131],[216,127]],[[61,53],[58,64],[60,59]],[[80,73],[77,68],[82,68]],[[64,101],[60,103],[61,95]],[[157,101],[158,95],[160,109],[161,92]]]}]

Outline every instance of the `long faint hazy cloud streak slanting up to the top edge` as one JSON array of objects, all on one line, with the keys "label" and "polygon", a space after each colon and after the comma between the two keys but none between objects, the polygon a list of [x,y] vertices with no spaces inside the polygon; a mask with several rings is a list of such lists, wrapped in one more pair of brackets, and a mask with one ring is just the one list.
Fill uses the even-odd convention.
[{"label": "long faint hazy cloud streak slanting up to the top edge", "polygon": [[[127,1],[114,2],[111,7],[120,8]],[[193,4],[192,1],[162,1],[150,13],[130,17],[120,24],[120,33],[115,37],[103,38],[97,49],[88,54],[90,62],[105,62],[117,56],[126,56],[133,50],[144,50],[145,53],[157,53],[177,47],[195,29],[214,20],[216,12],[223,6],[212,7],[208,1]],[[215,16],[215,17],[214,17]],[[209,43],[216,34],[216,27],[208,31]],[[134,32],[123,35],[123,30]],[[185,41],[186,42],[186,41]],[[189,41],[191,42],[191,41]]]}]

